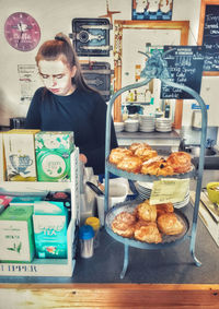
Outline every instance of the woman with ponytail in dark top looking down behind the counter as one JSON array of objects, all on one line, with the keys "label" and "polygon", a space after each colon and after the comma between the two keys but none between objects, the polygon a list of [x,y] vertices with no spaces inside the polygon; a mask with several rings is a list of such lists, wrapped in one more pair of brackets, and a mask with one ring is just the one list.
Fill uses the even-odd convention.
[{"label": "woman with ponytail in dark top looking down behind the counter", "polygon": [[[73,131],[80,159],[93,167],[94,174],[104,174],[106,104],[89,87],[70,39],[56,35],[45,41],[36,64],[44,87],[38,88],[27,111],[25,128],[42,131]],[[117,141],[112,126],[111,146]]]}]

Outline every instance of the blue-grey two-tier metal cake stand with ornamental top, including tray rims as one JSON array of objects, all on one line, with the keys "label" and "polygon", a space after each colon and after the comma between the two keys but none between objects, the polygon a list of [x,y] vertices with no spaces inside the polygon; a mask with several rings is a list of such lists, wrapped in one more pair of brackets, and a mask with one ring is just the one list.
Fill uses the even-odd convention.
[{"label": "blue-grey two-tier metal cake stand with ornamental top, including tray rims", "polygon": [[[198,259],[195,255],[195,240],[196,240],[198,207],[199,207],[200,190],[201,190],[201,179],[203,179],[203,171],[204,171],[204,161],[205,161],[205,144],[206,144],[206,135],[207,135],[207,109],[206,109],[206,105],[205,105],[203,98],[194,90],[192,90],[192,88],[189,88],[185,85],[181,85],[181,84],[169,81],[169,72],[166,71],[166,69],[164,70],[163,61],[162,61],[162,55],[160,52],[153,54],[150,59],[152,59],[152,61],[149,64],[148,64],[149,61],[147,61],[146,68],[142,71],[145,73],[146,80],[143,80],[140,83],[135,83],[135,84],[127,85],[127,86],[120,88],[117,93],[115,93],[112,96],[112,98],[108,103],[108,106],[107,106],[106,142],[105,142],[105,215],[111,212],[111,211],[108,212],[110,173],[117,175],[119,177],[125,177],[125,178],[128,178],[128,179],[140,180],[140,181],[154,181],[155,179],[159,179],[154,176],[151,177],[151,176],[147,176],[147,175],[126,173],[126,171],[117,169],[115,166],[113,166],[108,163],[107,158],[108,158],[110,151],[111,151],[110,150],[111,115],[112,115],[112,108],[113,108],[113,104],[114,104],[115,99],[124,92],[147,85],[152,79],[160,79],[161,82],[168,84],[169,86],[172,86],[172,87],[175,87],[175,88],[181,88],[181,90],[187,92],[188,94],[191,94],[197,100],[197,103],[199,104],[200,109],[201,109],[201,138],[200,138],[199,164],[198,164],[198,170],[194,169],[194,170],[192,170],[192,173],[178,175],[176,177],[178,177],[178,178],[196,177],[197,178],[197,181],[196,181],[196,198],[195,198],[195,206],[194,206],[193,222],[192,222],[192,231],[191,231],[191,235],[188,237],[189,237],[189,240],[191,240],[191,245],[189,245],[191,254],[194,259],[196,266],[200,266],[201,263],[198,261]],[[171,176],[171,178],[173,178],[173,176]],[[115,238],[117,241],[120,241],[120,242],[124,243],[124,250],[125,250],[125,252],[124,252],[124,265],[123,265],[123,271],[120,273],[120,278],[123,278],[125,276],[126,271],[127,271],[129,246],[141,248],[141,249],[160,249],[160,248],[164,249],[164,248],[169,247],[170,245],[173,246],[173,245],[176,245],[178,242],[178,241],[172,241],[170,243],[146,245],[146,243],[141,243],[140,241],[125,239],[125,238],[119,237],[118,235],[113,233],[108,222],[105,222],[105,229],[113,238]],[[181,238],[181,240],[183,240],[183,239],[184,239],[184,237]],[[138,243],[138,242],[140,242],[140,243]]]}]

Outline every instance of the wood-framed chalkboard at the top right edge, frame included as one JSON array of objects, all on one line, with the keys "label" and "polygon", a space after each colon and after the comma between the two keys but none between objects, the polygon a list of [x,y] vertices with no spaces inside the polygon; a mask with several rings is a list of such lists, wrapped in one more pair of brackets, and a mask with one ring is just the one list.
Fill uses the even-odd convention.
[{"label": "wood-framed chalkboard at the top right edge, frame included", "polygon": [[198,45],[205,47],[203,75],[219,75],[219,0],[201,0]]}]

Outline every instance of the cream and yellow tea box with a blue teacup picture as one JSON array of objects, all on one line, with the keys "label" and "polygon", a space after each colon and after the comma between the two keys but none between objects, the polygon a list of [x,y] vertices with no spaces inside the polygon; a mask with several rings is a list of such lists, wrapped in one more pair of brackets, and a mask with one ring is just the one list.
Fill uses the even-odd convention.
[{"label": "cream and yellow tea box with a blue teacup picture", "polygon": [[3,133],[8,181],[36,181],[35,133],[13,129]]}]

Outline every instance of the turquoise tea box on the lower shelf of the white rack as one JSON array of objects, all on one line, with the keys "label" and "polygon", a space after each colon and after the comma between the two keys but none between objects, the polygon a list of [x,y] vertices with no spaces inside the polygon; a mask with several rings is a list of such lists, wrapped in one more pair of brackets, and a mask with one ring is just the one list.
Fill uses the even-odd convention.
[{"label": "turquoise tea box on the lower shelf of the white rack", "polygon": [[68,212],[62,202],[34,203],[34,239],[39,259],[67,259]]}]

